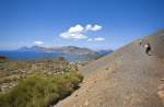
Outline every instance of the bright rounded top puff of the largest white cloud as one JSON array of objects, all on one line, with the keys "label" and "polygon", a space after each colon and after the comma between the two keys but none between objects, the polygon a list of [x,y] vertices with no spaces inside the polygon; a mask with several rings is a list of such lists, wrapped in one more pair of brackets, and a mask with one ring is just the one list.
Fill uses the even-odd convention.
[{"label": "bright rounded top puff of the largest white cloud", "polygon": [[82,33],[84,31],[84,27],[80,24],[72,26],[69,28],[68,33]]}]

